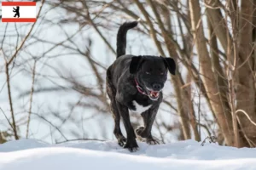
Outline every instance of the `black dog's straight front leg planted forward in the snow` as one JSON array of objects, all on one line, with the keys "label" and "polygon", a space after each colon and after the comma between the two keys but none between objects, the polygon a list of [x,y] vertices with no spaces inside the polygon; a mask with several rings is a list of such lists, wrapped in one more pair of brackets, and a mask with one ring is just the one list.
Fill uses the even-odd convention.
[{"label": "black dog's straight front leg planted forward in the snow", "polygon": [[127,134],[127,139],[126,139],[124,148],[127,148],[130,151],[136,151],[136,150],[138,150],[138,145],[137,145],[134,129],[131,126],[128,107],[126,107],[125,105],[122,105],[118,101],[116,103],[117,103],[117,106],[119,109],[119,113],[120,113],[121,117],[123,118],[125,130],[126,130],[126,134]]}]

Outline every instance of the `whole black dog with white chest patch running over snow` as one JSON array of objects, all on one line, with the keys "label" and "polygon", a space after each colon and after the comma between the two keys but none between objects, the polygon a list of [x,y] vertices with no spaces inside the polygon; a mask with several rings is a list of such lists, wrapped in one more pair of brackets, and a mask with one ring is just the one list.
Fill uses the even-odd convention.
[{"label": "whole black dog with white chest patch running over snow", "polygon": [[[107,71],[107,93],[114,119],[113,133],[119,145],[130,151],[137,150],[138,145],[129,110],[142,109],[144,127],[138,127],[136,133],[146,139],[148,144],[158,144],[151,135],[151,128],[163,98],[161,90],[166,82],[167,70],[175,75],[176,69],[172,58],[125,55],[126,33],[135,26],[137,21],[126,22],[119,27],[117,59]],[[119,127],[120,116],[125,125],[127,139]]]}]

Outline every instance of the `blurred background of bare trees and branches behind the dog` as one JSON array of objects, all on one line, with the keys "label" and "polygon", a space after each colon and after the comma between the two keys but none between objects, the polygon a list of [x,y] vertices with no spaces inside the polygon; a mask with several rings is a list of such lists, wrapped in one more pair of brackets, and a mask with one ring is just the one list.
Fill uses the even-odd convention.
[{"label": "blurred background of bare trees and branches behind the dog", "polygon": [[114,139],[106,68],[119,26],[141,18],[126,54],[177,62],[154,136],[256,146],[256,0],[42,0],[37,8],[35,24],[0,26],[1,143]]}]

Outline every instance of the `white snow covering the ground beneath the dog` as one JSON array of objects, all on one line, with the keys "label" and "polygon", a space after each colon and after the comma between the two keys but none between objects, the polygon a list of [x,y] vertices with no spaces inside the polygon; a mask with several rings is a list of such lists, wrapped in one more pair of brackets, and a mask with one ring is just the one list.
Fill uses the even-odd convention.
[{"label": "white snow covering the ground beneath the dog", "polygon": [[20,139],[0,144],[0,170],[163,170],[256,169],[256,149],[205,144],[194,140],[148,145],[130,153],[116,141],[46,144]]}]

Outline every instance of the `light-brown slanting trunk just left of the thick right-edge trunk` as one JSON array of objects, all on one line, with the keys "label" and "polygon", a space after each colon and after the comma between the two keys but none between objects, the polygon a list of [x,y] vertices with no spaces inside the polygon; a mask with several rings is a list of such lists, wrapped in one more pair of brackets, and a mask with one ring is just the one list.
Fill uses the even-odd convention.
[{"label": "light-brown slanting trunk just left of the thick right-edge trunk", "polygon": [[207,89],[207,97],[210,99],[212,110],[217,117],[219,127],[224,133],[226,144],[233,145],[233,132],[231,114],[225,111],[220,99],[220,91],[212,72],[211,59],[207,51],[206,38],[204,37],[203,27],[201,25],[201,8],[198,0],[189,0],[189,10],[191,15],[191,26],[196,43],[197,54],[199,55],[200,70],[203,76],[203,83]]}]

